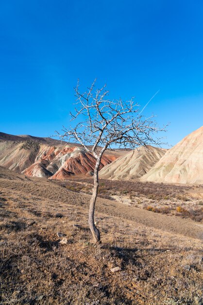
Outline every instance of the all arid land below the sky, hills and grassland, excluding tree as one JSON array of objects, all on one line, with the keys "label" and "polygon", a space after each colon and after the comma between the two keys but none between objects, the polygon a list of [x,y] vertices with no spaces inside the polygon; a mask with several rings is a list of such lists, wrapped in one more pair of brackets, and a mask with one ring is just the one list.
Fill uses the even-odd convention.
[{"label": "all arid land below the sky, hills and grassland, excluding tree", "polygon": [[[186,137],[177,151],[105,152],[94,244],[93,155],[0,133],[0,304],[202,304],[202,135],[194,133],[192,149]],[[182,155],[185,142],[190,153]],[[169,169],[179,171],[175,183],[166,183]]]}]

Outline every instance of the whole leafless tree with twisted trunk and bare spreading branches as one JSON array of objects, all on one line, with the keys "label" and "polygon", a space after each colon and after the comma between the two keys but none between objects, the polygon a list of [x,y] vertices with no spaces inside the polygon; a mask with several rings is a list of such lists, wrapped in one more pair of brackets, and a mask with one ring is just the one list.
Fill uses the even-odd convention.
[{"label": "whole leafless tree with twisted trunk and bare spreading branches", "polygon": [[[79,142],[87,152],[96,158],[94,169],[94,186],[89,205],[89,227],[95,243],[100,243],[100,231],[94,223],[95,202],[99,188],[99,168],[101,157],[107,148],[116,147],[135,149],[149,144],[159,145],[160,139],[154,138],[154,133],[164,131],[157,127],[152,117],[145,118],[139,114],[139,105],[134,99],[128,101],[112,100],[104,85],[95,90],[95,82],[83,93],[79,90],[79,81],[74,88],[77,98],[75,114],[70,113],[75,120],[74,127],[63,129],[61,139]],[[79,121],[79,122],[78,122]]]}]

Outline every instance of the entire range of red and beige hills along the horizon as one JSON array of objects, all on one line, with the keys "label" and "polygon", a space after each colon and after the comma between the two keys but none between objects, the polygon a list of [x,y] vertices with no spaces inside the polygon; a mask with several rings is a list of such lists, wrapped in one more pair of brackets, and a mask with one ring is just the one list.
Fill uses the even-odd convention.
[{"label": "entire range of red and beige hills along the horizon", "polygon": [[[99,148],[101,149],[101,148]],[[203,126],[170,149],[147,145],[106,150],[101,179],[166,184],[203,184]],[[96,159],[79,144],[51,138],[0,133],[0,165],[30,177],[67,180],[91,177]]]}]

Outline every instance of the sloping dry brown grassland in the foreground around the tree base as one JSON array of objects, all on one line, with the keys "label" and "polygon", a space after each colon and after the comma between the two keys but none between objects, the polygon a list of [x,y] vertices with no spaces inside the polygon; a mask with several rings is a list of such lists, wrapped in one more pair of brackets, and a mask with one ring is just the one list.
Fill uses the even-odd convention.
[{"label": "sloping dry brown grassland in the foreground around the tree base", "polygon": [[0,167],[0,304],[203,303],[201,222],[98,198],[102,243],[95,246],[89,198]]}]

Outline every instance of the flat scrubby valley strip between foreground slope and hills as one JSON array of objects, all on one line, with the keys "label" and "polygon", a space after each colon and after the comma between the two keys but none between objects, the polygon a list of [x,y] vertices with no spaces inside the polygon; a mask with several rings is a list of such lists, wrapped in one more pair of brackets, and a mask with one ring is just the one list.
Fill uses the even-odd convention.
[{"label": "flat scrubby valley strip between foreground slope and hills", "polygon": [[[91,194],[93,180],[92,178],[74,177],[74,179],[56,183],[72,191]],[[190,195],[194,189],[198,188],[203,189],[202,186],[101,179],[98,196],[156,213],[170,213],[201,222],[203,220],[203,202]],[[181,211],[177,209],[181,209]]]}]

